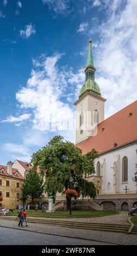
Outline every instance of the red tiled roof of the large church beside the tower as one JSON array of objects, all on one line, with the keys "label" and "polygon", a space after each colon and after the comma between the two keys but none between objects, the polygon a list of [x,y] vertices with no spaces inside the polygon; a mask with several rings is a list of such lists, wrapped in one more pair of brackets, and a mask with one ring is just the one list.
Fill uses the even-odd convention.
[{"label": "red tiled roof of the large church beside the tower", "polygon": [[76,144],[87,154],[93,148],[100,154],[137,141],[137,101],[121,109],[98,125],[97,135]]}]

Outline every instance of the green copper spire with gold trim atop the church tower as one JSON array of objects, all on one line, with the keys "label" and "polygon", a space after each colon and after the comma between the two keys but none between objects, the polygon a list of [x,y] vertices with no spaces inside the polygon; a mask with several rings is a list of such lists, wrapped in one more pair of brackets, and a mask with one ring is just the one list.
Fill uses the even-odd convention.
[{"label": "green copper spire with gold trim atop the church tower", "polygon": [[86,81],[84,82],[84,84],[80,90],[79,98],[84,93],[87,93],[87,92],[92,93],[93,95],[96,95],[96,96],[101,96],[100,87],[95,82],[95,71],[96,71],[96,69],[94,67],[93,52],[92,52],[92,39],[90,39],[89,40],[87,66],[86,66],[86,69],[84,70],[85,75],[86,75]]}]

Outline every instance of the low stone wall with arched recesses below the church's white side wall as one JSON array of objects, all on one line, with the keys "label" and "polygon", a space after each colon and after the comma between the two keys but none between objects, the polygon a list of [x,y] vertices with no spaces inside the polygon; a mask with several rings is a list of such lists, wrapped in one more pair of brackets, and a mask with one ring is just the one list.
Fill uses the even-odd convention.
[{"label": "low stone wall with arched recesses below the church's white side wall", "polygon": [[129,210],[134,204],[137,205],[137,198],[122,198],[122,199],[95,199],[95,204],[103,205],[104,210]]}]

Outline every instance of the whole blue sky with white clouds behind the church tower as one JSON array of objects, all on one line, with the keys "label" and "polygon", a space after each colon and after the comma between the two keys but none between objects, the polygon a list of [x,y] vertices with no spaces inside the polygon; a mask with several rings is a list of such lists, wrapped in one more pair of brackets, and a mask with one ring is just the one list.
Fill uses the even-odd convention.
[{"label": "whole blue sky with white clouds behind the church tower", "polygon": [[137,99],[136,0],[0,0],[0,26],[1,164],[30,161],[56,134],[75,142],[64,126],[89,38],[106,117]]}]

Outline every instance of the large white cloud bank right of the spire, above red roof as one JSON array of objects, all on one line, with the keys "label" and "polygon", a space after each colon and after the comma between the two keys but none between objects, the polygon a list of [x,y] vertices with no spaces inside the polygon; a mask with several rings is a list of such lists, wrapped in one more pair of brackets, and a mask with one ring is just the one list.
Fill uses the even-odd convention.
[{"label": "large white cloud bank right of the spire, above red roof", "polygon": [[[109,1],[108,1],[109,2]],[[96,78],[106,97],[106,117],[137,99],[137,1],[109,5],[108,20],[99,27],[101,43],[95,54]]]}]

